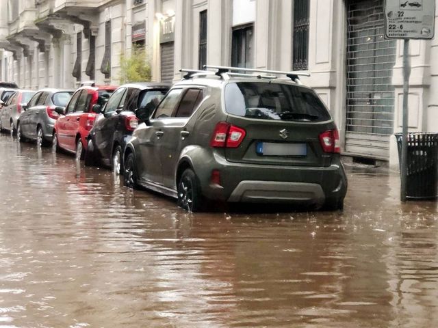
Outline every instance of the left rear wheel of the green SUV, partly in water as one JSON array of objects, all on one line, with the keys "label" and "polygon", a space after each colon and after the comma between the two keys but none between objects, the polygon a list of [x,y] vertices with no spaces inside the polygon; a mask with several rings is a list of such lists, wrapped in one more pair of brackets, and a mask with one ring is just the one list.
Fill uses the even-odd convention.
[{"label": "left rear wheel of the green SUV, partly in water", "polygon": [[203,209],[205,200],[201,194],[198,177],[192,169],[185,169],[178,181],[178,206],[189,212],[199,212]]}]

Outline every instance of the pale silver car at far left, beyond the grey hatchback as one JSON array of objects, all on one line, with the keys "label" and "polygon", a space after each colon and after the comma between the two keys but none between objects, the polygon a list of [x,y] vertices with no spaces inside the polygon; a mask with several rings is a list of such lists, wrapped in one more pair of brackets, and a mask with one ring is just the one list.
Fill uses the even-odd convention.
[{"label": "pale silver car at far left, beyond the grey hatchback", "polygon": [[34,94],[35,92],[32,90],[18,89],[8,98],[0,114],[0,126],[2,130],[9,130],[12,133],[16,132],[18,116],[20,116],[24,110],[23,108]]}]

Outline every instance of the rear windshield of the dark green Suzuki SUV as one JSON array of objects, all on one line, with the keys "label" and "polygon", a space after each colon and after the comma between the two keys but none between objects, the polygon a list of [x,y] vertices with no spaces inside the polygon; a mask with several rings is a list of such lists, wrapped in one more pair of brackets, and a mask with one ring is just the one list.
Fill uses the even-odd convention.
[{"label": "rear windshield of the dark green Suzuki SUV", "polygon": [[233,115],[260,120],[323,122],[331,118],[312,90],[268,82],[227,84],[225,110]]}]

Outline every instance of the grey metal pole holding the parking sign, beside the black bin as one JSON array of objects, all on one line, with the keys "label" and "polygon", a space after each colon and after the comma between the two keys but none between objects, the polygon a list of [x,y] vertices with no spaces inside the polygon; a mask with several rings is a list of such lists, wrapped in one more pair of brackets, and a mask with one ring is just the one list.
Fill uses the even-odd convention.
[{"label": "grey metal pole holding the parking sign, beside the black bin", "polygon": [[403,129],[402,129],[402,163],[400,163],[400,200],[406,202],[407,151],[408,151],[408,96],[409,76],[411,75],[411,60],[409,59],[409,39],[403,41]]}]

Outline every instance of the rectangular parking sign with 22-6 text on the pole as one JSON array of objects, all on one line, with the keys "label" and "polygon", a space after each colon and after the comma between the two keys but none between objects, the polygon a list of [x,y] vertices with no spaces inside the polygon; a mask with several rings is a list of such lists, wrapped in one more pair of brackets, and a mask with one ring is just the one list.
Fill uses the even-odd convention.
[{"label": "rectangular parking sign with 22-6 text on the pole", "polygon": [[385,37],[432,39],[435,0],[385,0]]}]

